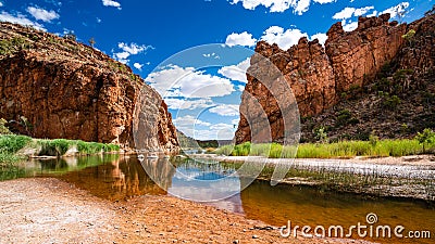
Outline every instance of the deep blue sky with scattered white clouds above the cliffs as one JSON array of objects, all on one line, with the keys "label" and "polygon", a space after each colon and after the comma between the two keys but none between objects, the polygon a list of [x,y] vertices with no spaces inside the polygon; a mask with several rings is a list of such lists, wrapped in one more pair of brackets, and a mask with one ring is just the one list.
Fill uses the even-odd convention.
[{"label": "deep blue sky with scattered white clouds above the cliffs", "polygon": [[[97,49],[132,66],[165,97],[178,129],[198,139],[231,139],[247,57],[258,40],[283,49],[302,36],[324,42],[336,22],[349,31],[358,15],[389,12],[393,20],[412,22],[433,4],[433,0],[0,0],[0,21],[60,36],[73,31],[85,43],[95,38]],[[402,11],[405,16],[399,17],[396,13]],[[209,43],[226,46],[182,52]]]}]

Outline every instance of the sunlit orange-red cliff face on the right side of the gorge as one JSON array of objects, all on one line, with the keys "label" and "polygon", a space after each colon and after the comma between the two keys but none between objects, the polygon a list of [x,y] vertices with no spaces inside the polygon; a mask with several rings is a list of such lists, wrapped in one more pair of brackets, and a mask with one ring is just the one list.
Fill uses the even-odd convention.
[{"label": "sunlit orange-red cliff face on the right side of the gorge", "polygon": [[[350,33],[345,33],[341,23],[337,23],[327,31],[325,48],[318,40],[301,38],[297,46],[286,51],[260,41],[256,52],[271,60],[285,76],[298,102],[300,116],[315,115],[336,104],[344,92],[363,86],[397,55],[407,25],[388,23],[388,20],[389,14],[360,17],[358,28]],[[252,98],[246,93],[258,99],[272,125],[273,141],[282,142],[282,116],[274,105],[275,99],[259,85],[261,80],[249,74],[247,77],[240,111],[249,111],[247,106]],[[240,114],[236,142],[249,141],[250,133],[248,121]]]}]

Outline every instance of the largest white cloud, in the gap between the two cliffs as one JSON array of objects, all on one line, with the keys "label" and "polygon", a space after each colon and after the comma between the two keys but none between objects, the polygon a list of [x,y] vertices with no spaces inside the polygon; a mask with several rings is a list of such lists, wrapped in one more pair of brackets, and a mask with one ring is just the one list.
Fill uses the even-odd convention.
[{"label": "largest white cloud, in the gap between the two cliffs", "polygon": [[211,98],[231,94],[229,79],[204,74],[194,67],[169,65],[148,75],[149,82],[162,97]]}]

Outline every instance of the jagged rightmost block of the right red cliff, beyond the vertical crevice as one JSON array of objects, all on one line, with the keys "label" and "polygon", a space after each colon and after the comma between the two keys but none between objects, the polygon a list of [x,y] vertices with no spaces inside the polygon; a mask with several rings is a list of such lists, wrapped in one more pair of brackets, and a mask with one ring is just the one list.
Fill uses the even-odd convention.
[{"label": "jagged rightmost block of the right red cliff, beyond the vertical crevice", "polygon": [[407,25],[388,23],[388,20],[389,14],[359,17],[358,28],[351,33],[345,33],[340,22],[327,31],[325,49],[337,92],[363,86],[364,78],[372,78],[397,55]]}]

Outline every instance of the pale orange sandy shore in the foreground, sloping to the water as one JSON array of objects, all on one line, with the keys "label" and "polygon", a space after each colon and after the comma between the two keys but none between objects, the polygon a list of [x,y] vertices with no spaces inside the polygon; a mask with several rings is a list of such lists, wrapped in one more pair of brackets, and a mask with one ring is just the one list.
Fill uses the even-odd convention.
[{"label": "pale orange sandy shore in the foreground, sloping to the water", "polygon": [[0,182],[0,243],[368,243],[288,239],[241,215],[172,196],[109,202],[58,179]]}]

